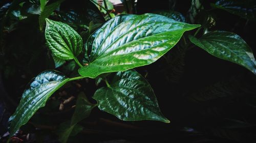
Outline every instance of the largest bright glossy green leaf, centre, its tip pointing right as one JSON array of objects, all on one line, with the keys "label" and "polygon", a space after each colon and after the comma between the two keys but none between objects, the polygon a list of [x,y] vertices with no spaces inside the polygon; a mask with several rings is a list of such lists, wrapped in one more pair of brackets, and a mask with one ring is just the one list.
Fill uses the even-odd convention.
[{"label": "largest bright glossy green leaf, centre, its tip pointing right", "polygon": [[171,49],[185,31],[199,26],[157,14],[118,15],[88,39],[86,55],[91,63],[80,68],[79,74],[95,78],[149,65]]}]

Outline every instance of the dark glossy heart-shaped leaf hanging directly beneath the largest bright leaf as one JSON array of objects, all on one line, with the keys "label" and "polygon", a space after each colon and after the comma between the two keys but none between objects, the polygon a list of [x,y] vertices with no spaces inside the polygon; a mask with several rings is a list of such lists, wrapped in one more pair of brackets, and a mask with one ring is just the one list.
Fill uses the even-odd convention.
[{"label": "dark glossy heart-shaped leaf hanging directly beneath the largest bright leaf", "polygon": [[97,100],[99,109],[124,121],[169,123],[160,111],[150,84],[135,70],[117,72],[110,87],[98,89],[93,98]]}]

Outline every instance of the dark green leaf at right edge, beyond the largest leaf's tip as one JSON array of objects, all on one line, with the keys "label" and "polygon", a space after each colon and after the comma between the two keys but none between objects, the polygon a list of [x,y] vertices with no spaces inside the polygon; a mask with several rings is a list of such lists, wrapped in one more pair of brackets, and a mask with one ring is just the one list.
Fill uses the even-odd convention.
[{"label": "dark green leaf at right edge, beyond the largest leaf's tip", "polygon": [[239,64],[256,74],[256,62],[252,50],[237,34],[214,31],[199,39],[189,36],[189,40],[209,54]]}]

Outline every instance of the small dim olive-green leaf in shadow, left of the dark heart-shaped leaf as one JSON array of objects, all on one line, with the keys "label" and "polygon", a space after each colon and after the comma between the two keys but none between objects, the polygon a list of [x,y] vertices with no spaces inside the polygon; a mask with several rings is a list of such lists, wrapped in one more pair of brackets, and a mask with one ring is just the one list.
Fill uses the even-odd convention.
[{"label": "small dim olive-green leaf in shadow, left of the dark heart-shaped leaf", "polygon": [[90,103],[89,100],[86,98],[86,95],[84,95],[84,93],[81,92],[78,95],[78,98],[76,101],[76,109],[71,119],[71,126],[77,124],[83,119],[86,119],[90,115],[91,110],[95,106],[96,105]]}]

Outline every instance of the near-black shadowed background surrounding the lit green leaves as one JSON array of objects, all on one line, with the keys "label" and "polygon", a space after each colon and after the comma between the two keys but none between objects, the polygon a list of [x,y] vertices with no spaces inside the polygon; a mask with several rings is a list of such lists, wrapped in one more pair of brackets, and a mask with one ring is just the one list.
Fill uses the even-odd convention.
[{"label": "near-black shadowed background surrounding the lit green leaves", "polygon": [[[205,10],[195,17],[198,24],[211,15],[215,24],[212,30],[230,31],[240,35],[255,55],[255,20],[246,20],[223,10],[211,10],[210,3],[202,2]],[[10,1],[1,1],[1,55],[0,55],[0,134],[7,132],[8,118],[15,111],[30,79],[38,73],[55,69],[54,61],[45,45],[44,32],[38,28],[38,15],[28,18],[13,17],[3,20]],[[130,13],[149,13],[155,10],[174,9],[188,20],[191,1],[141,1]],[[29,7],[29,6],[28,6]],[[66,0],[58,16],[51,19],[71,23],[86,40],[88,34],[79,24],[88,24],[86,9],[93,9],[86,1]],[[15,8],[18,9],[18,8]],[[209,11],[207,11],[209,10]],[[21,10],[22,11],[22,10]],[[77,13],[75,20],[65,19],[65,13]],[[96,11],[96,10],[95,10]],[[89,20],[88,20],[89,19]],[[99,23],[104,19],[99,17]],[[88,22],[89,21],[89,22]],[[193,31],[195,32],[195,31]],[[188,33],[185,34],[187,36]],[[200,37],[202,33],[197,36]],[[187,40],[187,42],[189,42]],[[182,43],[178,43],[180,45]],[[192,44],[191,44],[192,45]],[[169,124],[156,121],[124,122],[115,116],[94,108],[90,117],[80,124],[84,130],[70,142],[255,142],[256,141],[256,77],[247,69],[208,54],[199,47],[186,50],[177,46],[166,53],[166,59],[136,68],[152,85],[163,115]],[[57,68],[68,76],[72,63]],[[78,67],[75,67],[75,70]],[[80,87],[81,85],[81,87]],[[103,86],[101,83],[99,85]],[[56,127],[71,118],[74,102],[59,110],[59,103],[80,91],[92,97],[99,88],[95,80],[86,79],[69,83],[53,95],[46,107],[38,110],[31,122],[24,125],[17,138],[20,142],[57,142]],[[91,102],[93,99],[90,98]],[[29,134],[29,139],[26,139]],[[3,137],[2,142],[6,141]],[[38,141],[40,140],[40,141]],[[112,140],[112,141],[111,141]]]}]

